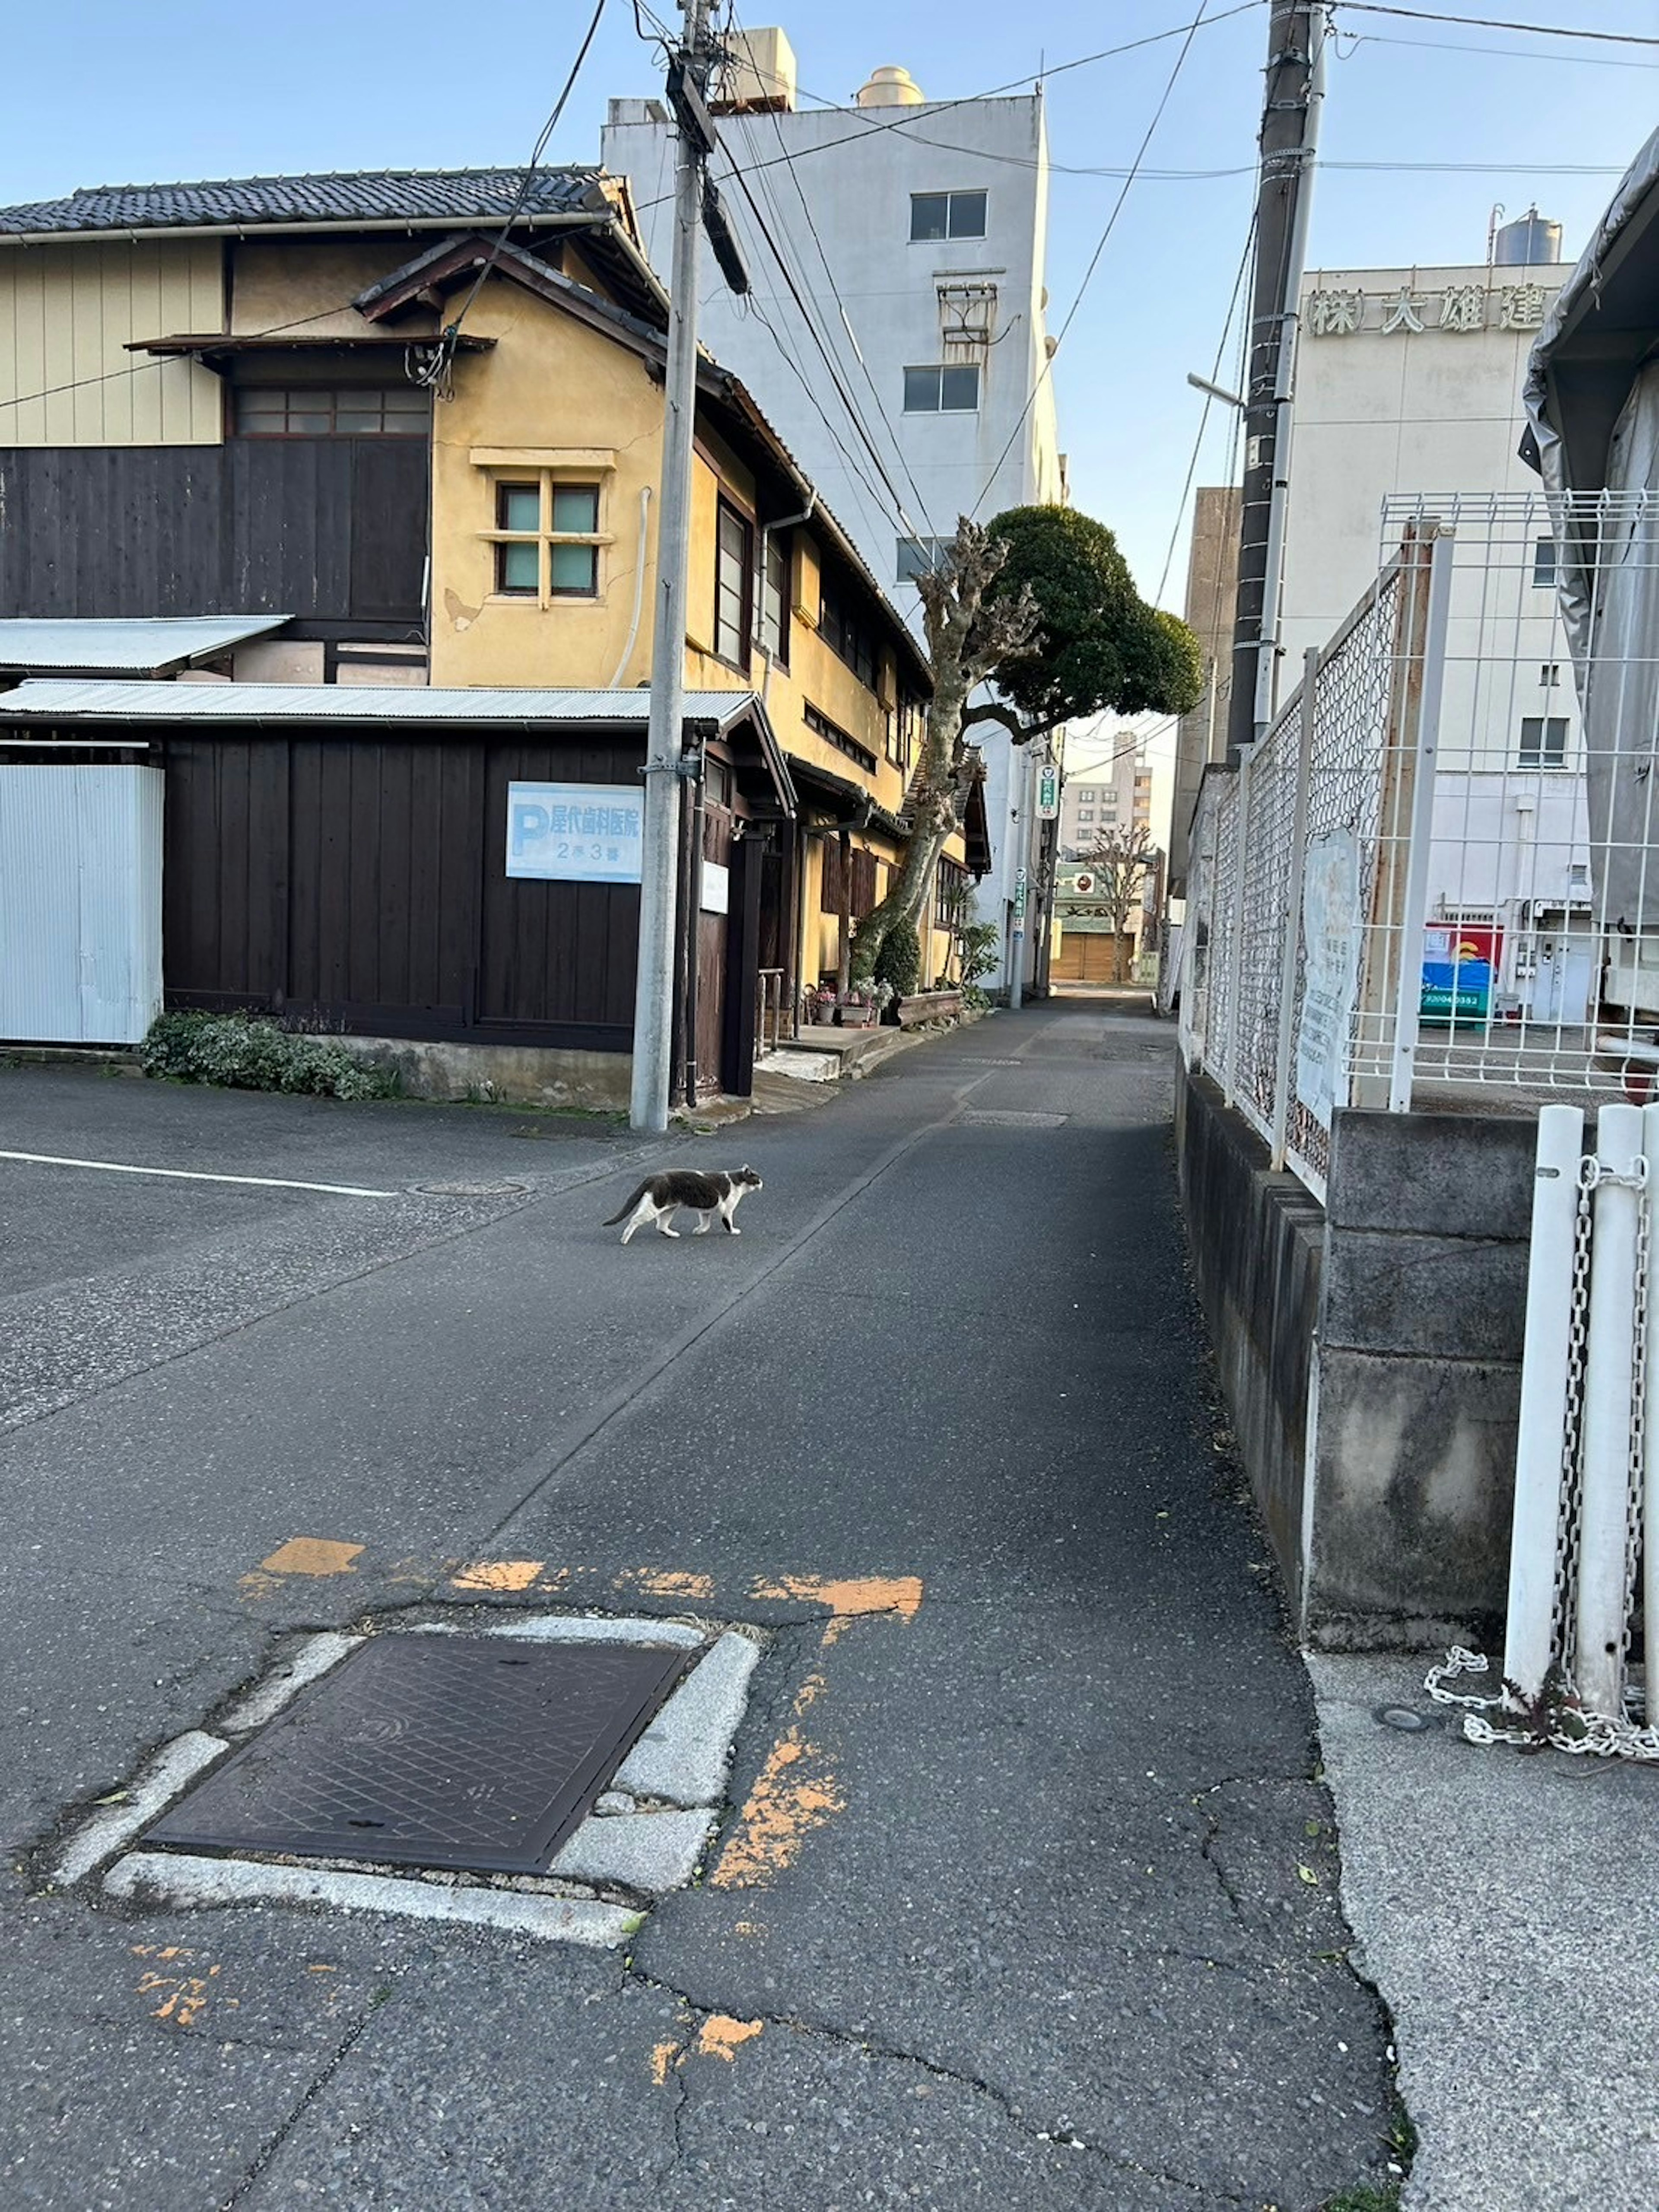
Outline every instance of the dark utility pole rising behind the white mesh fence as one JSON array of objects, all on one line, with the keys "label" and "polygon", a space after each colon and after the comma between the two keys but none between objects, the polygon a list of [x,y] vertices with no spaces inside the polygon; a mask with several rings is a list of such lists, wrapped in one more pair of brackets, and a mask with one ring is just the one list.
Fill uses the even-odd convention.
[{"label": "dark utility pole rising behind the white mesh fence", "polygon": [[1290,489],[1290,380],[1307,265],[1318,111],[1325,95],[1325,0],[1272,0],[1256,188],[1256,274],[1250,299],[1228,763],[1237,763],[1241,750],[1272,721],[1274,706],[1279,575]]}]

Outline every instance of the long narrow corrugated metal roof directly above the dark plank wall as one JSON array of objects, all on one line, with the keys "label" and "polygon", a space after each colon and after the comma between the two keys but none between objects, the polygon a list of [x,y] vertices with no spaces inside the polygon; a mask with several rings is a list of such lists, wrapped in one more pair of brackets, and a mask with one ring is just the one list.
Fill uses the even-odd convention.
[{"label": "long narrow corrugated metal roof directly above the dark plank wall", "polygon": [[[754,692],[686,692],[686,721],[726,726]],[[414,684],[73,684],[0,692],[0,721],[586,721],[644,723],[646,690],[434,690]]]}]

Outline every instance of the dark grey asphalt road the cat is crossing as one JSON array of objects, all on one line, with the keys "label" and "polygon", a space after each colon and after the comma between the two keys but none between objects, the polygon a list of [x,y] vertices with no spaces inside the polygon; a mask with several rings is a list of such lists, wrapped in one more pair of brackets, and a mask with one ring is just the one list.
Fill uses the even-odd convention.
[{"label": "dark grey asphalt road the cat is crossing", "polygon": [[[7,2212],[1314,2212],[1385,2174],[1170,1042],[1000,1015],[668,1148],[765,1190],[626,1250],[611,1126],[0,1071],[7,1152],[274,1179],[0,1159]],[[354,1551],[265,1571],[290,1537]],[[626,1955],[44,1885],[299,1630],[509,1559],[542,1606],[772,1630],[730,1796],[794,1741],[792,1851]],[[863,1577],[911,1595],[825,1630]]]}]

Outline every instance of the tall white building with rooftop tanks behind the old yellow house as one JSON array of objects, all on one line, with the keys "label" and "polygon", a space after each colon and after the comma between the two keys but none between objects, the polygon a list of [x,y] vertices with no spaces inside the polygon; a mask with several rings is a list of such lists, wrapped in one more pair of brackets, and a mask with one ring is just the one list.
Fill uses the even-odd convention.
[{"label": "tall white building with rooftop tanks behind the old yellow house", "polygon": [[[960,515],[1066,495],[1046,374],[1042,100],[931,106],[909,71],[883,66],[854,106],[807,108],[783,31],[739,40],[745,58],[717,84],[714,179],[752,292],[734,296],[703,243],[699,336],[902,606]],[[666,276],[675,128],[659,102],[611,102],[604,166],[628,177]],[[1035,885],[1035,807],[1031,763],[982,728],[993,865],[978,909],[1002,925],[991,982],[1006,987],[1018,867]],[[1026,982],[1037,938],[1033,914]]]}]

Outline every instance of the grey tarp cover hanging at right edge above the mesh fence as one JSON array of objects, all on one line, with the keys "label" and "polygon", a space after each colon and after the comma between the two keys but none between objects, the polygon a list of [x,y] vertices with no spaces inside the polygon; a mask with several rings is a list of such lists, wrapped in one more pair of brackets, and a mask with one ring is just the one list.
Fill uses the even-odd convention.
[{"label": "grey tarp cover hanging at right edge above the mesh fence", "polygon": [[[1522,453],[1551,498],[1584,714],[1595,914],[1621,931],[1659,925],[1659,272],[1635,330],[1626,288],[1624,343],[1606,345],[1599,316],[1608,257],[1619,248],[1628,265],[1637,230],[1657,219],[1659,131],[1562,285],[1524,385]],[[1564,369],[1575,374],[1562,378]]]}]

